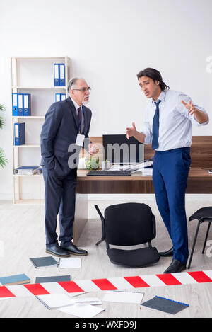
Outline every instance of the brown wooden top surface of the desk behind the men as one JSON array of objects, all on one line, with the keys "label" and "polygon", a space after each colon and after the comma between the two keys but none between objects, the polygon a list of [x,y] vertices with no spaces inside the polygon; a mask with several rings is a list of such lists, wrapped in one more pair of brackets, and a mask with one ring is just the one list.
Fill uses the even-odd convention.
[{"label": "brown wooden top surface of the desk behind the men", "polygon": [[[152,181],[152,176],[143,176],[141,172],[132,173],[131,176],[86,176],[85,169],[78,169],[78,181]],[[212,174],[207,169],[192,167],[189,171],[188,181],[212,181]]]}]

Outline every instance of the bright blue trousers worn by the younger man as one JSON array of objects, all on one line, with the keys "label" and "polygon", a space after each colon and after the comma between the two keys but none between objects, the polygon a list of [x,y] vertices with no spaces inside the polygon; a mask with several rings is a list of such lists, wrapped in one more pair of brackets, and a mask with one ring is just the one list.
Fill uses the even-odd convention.
[{"label": "bright blue trousers worn by the younger man", "polygon": [[153,185],[158,210],[172,239],[173,259],[184,264],[189,256],[184,195],[190,164],[189,147],[155,151]]}]

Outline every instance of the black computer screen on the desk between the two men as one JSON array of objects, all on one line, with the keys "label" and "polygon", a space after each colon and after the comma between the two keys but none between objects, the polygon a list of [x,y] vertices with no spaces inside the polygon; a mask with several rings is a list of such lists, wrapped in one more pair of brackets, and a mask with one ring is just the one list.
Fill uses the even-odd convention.
[{"label": "black computer screen on the desk between the two men", "polygon": [[103,139],[103,158],[112,164],[135,164],[144,160],[144,146],[134,137],[126,134],[106,134]]}]

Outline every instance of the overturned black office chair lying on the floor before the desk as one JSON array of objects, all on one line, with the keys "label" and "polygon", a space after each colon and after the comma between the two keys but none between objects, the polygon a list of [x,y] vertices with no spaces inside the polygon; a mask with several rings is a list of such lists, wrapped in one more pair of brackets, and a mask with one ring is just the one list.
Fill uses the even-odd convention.
[{"label": "overturned black office chair lying on the floor before the desk", "polygon": [[[156,236],[155,216],[151,208],[141,203],[124,203],[110,205],[102,216],[98,205],[95,205],[102,220],[102,241],[106,242],[107,255],[110,261],[127,268],[142,268],[157,263],[160,259],[158,250],[152,247],[151,240]],[[136,249],[110,248],[112,246],[148,246]]]}]

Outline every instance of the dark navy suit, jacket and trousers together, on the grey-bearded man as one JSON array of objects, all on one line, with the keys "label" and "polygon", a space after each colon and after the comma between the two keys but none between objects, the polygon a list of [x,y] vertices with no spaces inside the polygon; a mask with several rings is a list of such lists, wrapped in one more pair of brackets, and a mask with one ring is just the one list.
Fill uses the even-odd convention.
[{"label": "dark navy suit, jacket and trousers together, on the grey-bearded man", "polygon": [[[88,139],[91,110],[83,105],[83,132]],[[76,108],[67,98],[53,103],[45,115],[40,135],[41,166],[45,181],[45,234],[46,246],[57,243],[57,215],[59,214],[59,241],[65,246],[73,239],[75,214],[76,171],[69,168],[72,154],[76,156],[80,147],[75,144],[79,132]],[[71,152],[69,152],[69,151]]]}]

